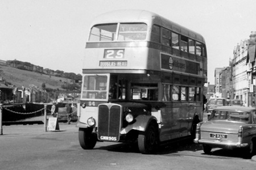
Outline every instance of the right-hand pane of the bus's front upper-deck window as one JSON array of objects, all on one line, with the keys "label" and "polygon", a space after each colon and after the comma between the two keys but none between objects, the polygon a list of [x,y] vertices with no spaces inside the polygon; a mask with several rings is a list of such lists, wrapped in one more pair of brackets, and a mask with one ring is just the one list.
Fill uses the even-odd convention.
[{"label": "right-hand pane of the bus's front upper-deck window", "polygon": [[118,41],[146,40],[147,25],[144,23],[121,23]]}]

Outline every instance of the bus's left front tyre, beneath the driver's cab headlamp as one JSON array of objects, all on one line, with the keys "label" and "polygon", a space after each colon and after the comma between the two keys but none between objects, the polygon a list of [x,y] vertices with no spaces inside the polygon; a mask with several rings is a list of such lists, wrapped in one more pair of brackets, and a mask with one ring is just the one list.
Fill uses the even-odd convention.
[{"label": "bus's left front tyre, beneath the driver's cab headlamp", "polygon": [[97,135],[92,133],[92,129],[79,128],[79,143],[84,150],[91,150],[97,142]]}]

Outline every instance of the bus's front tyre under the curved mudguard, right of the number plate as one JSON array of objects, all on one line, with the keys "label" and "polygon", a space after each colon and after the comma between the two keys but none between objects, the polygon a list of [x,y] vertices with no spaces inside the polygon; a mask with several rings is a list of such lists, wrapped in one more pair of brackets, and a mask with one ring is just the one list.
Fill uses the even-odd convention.
[{"label": "bus's front tyre under the curved mudguard, right of the number plate", "polygon": [[138,147],[142,154],[150,154],[156,148],[158,143],[157,125],[150,123],[144,131],[144,134],[138,136]]}]

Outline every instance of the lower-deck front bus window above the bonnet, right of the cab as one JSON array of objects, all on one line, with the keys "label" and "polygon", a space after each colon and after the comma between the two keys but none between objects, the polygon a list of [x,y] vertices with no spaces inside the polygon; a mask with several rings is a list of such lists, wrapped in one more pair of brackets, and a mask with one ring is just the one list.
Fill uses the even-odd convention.
[{"label": "lower-deck front bus window above the bonnet, right of the cab", "polygon": [[132,83],[131,99],[158,101],[158,84]]}]

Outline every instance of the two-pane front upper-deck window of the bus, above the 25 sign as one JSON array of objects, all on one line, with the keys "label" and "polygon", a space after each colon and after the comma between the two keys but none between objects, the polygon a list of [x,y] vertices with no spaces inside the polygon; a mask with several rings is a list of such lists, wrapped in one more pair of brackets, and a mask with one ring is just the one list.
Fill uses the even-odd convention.
[{"label": "two-pane front upper-deck window of the bus, above the 25 sign", "polygon": [[146,35],[144,23],[98,24],[90,31],[89,41],[146,40]]}]

